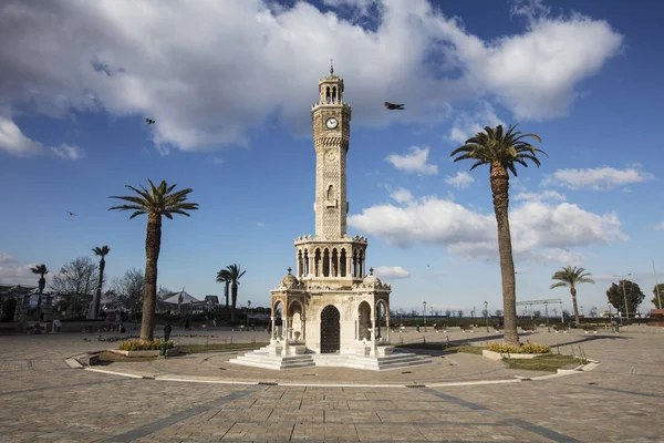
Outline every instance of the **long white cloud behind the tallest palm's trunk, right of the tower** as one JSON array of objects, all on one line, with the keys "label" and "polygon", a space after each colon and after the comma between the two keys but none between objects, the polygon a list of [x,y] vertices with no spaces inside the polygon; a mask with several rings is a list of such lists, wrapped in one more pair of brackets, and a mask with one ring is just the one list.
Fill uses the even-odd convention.
[{"label": "long white cloud behind the tallest palm's trunk, right of the tower", "polygon": [[[349,217],[349,225],[385,241],[407,247],[439,244],[465,257],[496,257],[496,219],[459,204],[426,197],[406,207],[378,205]],[[574,204],[523,200],[510,212],[515,259],[578,262],[572,248],[626,239],[613,213],[593,214]]]}]

